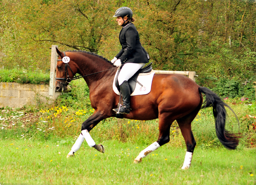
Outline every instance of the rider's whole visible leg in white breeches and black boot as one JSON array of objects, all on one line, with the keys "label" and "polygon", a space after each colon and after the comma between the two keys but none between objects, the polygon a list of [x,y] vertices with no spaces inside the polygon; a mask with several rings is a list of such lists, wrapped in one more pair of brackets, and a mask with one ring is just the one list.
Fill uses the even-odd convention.
[{"label": "rider's whole visible leg in white breeches and black boot", "polygon": [[120,113],[130,113],[130,86],[128,84],[128,80],[141,68],[144,67],[145,64],[136,64],[136,63],[126,63],[120,70],[119,76],[118,76],[118,83],[120,86],[120,91],[122,93],[123,97],[123,105],[116,109],[113,109],[114,111]]}]

